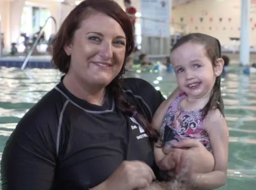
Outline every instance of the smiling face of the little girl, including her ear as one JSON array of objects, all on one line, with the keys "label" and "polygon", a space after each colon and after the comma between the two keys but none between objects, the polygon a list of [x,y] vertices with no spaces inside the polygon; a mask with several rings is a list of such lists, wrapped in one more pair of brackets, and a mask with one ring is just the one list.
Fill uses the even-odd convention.
[{"label": "smiling face of the little girl, including her ear", "polygon": [[215,79],[223,69],[222,62],[213,67],[204,46],[194,42],[187,42],[172,51],[171,64],[178,86],[193,99],[210,97]]}]

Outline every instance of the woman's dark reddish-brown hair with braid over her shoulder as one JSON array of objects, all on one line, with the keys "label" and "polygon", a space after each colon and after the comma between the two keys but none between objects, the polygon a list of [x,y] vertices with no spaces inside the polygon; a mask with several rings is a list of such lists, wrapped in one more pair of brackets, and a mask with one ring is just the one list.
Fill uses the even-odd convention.
[{"label": "woman's dark reddish-brown hair with braid over her shoulder", "polygon": [[153,130],[146,117],[137,113],[136,106],[131,104],[125,98],[125,93],[122,87],[125,63],[127,57],[130,56],[134,49],[135,42],[131,21],[126,15],[125,11],[121,9],[121,7],[116,2],[112,0],[85,0],[76,6],[66,17],[65,21],[63,21],[59,31],[52,41],[52,62],[62,73],[66,74],[68,72],[71,56],[68,56],[63,48],[66,44],[72,42],[75,31],[80,28],[80,23],[93,13],[97,12],[104,13],[105,15],[115,19],[124,30],[126,36],[126,52],[124,64],[117,77],[114,78],[112,82],[107,86],[107,90],[113,94],[114,99],[116,100],[117,108],[123,112],[123,114],[130,117],[135,117],[138,123],[144,126],[145,131],[149,135],[150,139],[156,140],[158,138],[158,133]]}]

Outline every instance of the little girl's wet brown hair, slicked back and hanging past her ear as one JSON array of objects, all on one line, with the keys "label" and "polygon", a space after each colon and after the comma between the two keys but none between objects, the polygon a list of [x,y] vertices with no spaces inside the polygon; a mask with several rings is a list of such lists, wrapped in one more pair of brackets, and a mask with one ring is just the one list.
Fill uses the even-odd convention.
[{"label": "little girl's wet brown hair, slicked back and hanging past her ear", "polygon": [[[206,50],[206,55],[212,62],[213,67],[216,65],[217,59],[221,58],[221,44],[217,38],[214,38],[203,33],[189,33],[180,38],[177,43],[172,47],[171,52],[180,47],[181,45],[193,42],[201,44]],[[202,108],[202,117],[206,117],[210,110],[218,108],[224,116],[224,104],[221,97],[221,76],[216,77],[212,89],[212,94],[206,106]]]}]

